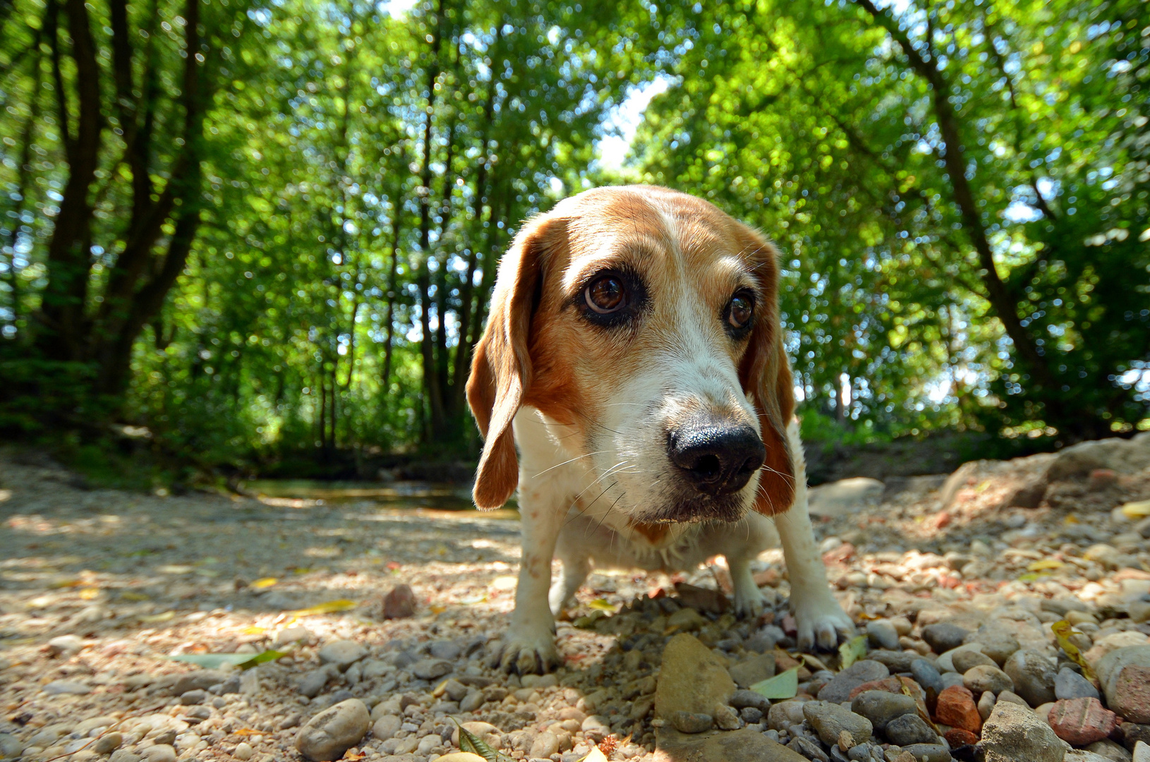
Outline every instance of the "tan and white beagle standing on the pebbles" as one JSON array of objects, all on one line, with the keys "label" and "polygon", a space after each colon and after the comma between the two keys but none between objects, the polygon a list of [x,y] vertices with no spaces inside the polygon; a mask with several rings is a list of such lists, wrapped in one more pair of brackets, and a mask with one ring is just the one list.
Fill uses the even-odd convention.
[{"label": "tan and white beagle standing on the pebbles", "polygon": [[722,554],[737,613],[758,615],[750,563],[780,540],[799,647],[853,631],[807,516],[777,291],[769,243],[667,188],[586,191],[523,225],[467,384],[484,437],[475,505],[519,488],[504,669],[558,664],[553,615],[592,564],[677,571]]}]

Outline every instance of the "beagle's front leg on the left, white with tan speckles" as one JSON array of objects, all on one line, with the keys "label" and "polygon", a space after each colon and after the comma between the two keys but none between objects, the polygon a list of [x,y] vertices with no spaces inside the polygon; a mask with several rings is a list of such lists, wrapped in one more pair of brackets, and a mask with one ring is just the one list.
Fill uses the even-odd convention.
[{"label": "beagle's front leg on the left, white with tan speckles", "polygon": [[520,675],[546,672],[559,664],[555,621],[547,603],[547,590],[551,559],[565,513],[550,505],[546,492],[530,485],[520,490],[523,555],[515,588],[515,611],[499,654],[500,665]]}]

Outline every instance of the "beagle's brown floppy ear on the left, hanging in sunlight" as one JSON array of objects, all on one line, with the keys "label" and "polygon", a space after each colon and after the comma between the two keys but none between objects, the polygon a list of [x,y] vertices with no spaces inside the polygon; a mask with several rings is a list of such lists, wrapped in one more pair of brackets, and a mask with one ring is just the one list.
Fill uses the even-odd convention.
[{"label": "beagle's brown floppy ear on the left, hanging in sunlight", "polygon": [[511,424],[531,385],[531,315],[544,260],[550,248],[565,241],[562,221],[536,217],[523,226],[499,262],[488,326],[475,347],[467,379],[467,403],[484,440],[471,497],[483,510],[503,506],[519,485]]}]

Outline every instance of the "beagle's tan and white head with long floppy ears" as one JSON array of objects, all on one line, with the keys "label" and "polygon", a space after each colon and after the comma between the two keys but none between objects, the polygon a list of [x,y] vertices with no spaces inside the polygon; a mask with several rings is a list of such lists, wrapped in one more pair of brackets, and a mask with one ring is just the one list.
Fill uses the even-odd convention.
[{"label": "beagle's tan and white head with long floppy ears", "polygon": [[564,428],[560,445],[632,523],[790,508],[777,287],[770,244],[666,188],[588,191],[527,223],[467,385],[485,437],[476,505],[514,492],[511,424],[527,405]]}]

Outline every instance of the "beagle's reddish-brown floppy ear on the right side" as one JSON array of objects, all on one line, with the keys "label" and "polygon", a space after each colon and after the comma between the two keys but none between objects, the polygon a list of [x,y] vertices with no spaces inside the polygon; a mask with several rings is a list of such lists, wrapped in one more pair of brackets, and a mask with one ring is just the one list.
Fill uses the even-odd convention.
[{"label": "beagle's reddish-brown floppy ear on the right side", "polygon": [[744,256],[759,282],[761,303],[754,308],[754,326],[738,375],[743,390],[754,401],[767,447],[754,509],[773,516],[789,510],[795,502],[795,465],[787,436],[787,425],[795,415],[795,383],[779,317],[779,253],[750,228],[739,225],[739,233]]}]

